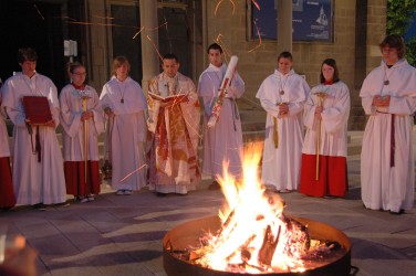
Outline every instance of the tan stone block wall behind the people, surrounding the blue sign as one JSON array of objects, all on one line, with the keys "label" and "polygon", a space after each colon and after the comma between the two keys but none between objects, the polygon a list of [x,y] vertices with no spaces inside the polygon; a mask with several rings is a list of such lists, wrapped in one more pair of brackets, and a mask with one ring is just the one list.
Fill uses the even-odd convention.
[{"label": "tan stone block wall behind the people, surrounding the blue sign", "polygon": [[[250,1],[247,1],[250,3]],[[247,8],[246,1],[223,1],[218,7],[218,1],[208,1],[207,17],[207,43],[210,44],[221,39],[226,50],[239,56],[238,71],[247,86],[245,98],[259,103],[256,93],[261,82],[270,75],[277,63],[277,42],[250,41],[247,38]],[[216,13],[216,8],[217,13]],[[367,10],[367,14],[363,14]],[[233,13],[232,13],[233,12]],[[304,74],[310,86],[319,83],[320,67],[324,59],[335,59],[340,68],[340,76],[351,89],[352,114],[350,129],[362,129],[365,116],[362,113],[360,99],[360,86],[365,74],[379,63],[378,43],[385,35],[386,0],[336,0],[334,1],[334,41],[321,42],[294,42],[292,54],[293,67]],[[363,20],[365,19],[365,20]],[[360,21],[358,21],[360,20]],[[364,39],[356,43],[356,32]],[[254,51],[250,50],[257,47]],[[365,52],[357,55],[357,47],[364,47]],[[360,68],[356,71],[356,62]],[[360,73],[357,76],[356,73]],[[356,118],[360,117],[358,119]]]}]

